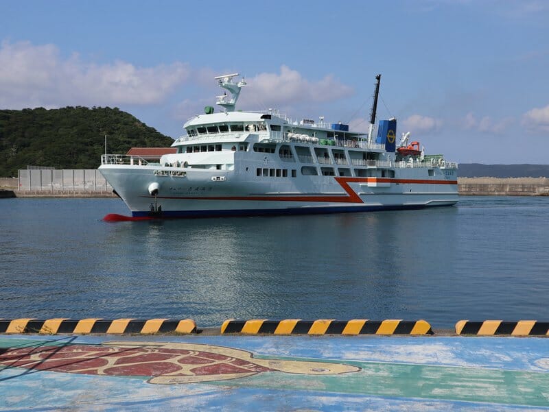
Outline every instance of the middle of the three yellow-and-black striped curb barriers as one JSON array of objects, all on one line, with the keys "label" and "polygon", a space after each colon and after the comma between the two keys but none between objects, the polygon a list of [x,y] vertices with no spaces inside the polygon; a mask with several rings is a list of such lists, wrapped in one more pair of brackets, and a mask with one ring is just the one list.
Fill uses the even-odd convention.
[{"label": "middle of the three yellow-and-black striped curb barriers", "polygon": [[375,321],[353,320],[268,320],[228,319],[221,326],[221,333],[274,334],[274,335],[432,335],[431,325],[424,320],[397,319]]}]

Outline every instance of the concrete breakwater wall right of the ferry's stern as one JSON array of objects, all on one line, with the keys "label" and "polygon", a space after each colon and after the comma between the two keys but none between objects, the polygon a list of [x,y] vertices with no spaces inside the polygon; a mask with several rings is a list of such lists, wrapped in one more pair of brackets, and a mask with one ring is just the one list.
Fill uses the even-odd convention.
[{"label": "concrete breakwater wall right of the ferry's stern", "polygon": [[460,195],[549,196],[548,178],[458,178]]}]

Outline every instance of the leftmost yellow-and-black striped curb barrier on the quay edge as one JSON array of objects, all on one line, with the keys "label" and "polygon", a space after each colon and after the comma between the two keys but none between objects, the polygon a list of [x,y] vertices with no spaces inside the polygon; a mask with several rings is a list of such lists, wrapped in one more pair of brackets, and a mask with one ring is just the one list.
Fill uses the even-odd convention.
[{"label": "leftmost yellow-and-black striped curb barrier on the quay edge", "polygon": [[140,333],[148,335],[170,332],[196,332],[196,324],[191,319],[0,319],[0,333],[40,333],[45,335],[56,335],[58,333],[75,335]]}]

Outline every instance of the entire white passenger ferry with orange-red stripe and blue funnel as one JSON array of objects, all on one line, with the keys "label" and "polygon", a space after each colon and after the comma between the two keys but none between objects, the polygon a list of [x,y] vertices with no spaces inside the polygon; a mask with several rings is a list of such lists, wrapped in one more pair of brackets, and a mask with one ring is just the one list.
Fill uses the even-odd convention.
[{"label": "entire white passenger ferry with orange-red stripe and blue funnel", "polygon": [[[235,110],[246,82],[215,77],[218,112],[185,123],[176,153],[160,162],[105,154],[100,172],[134,219],[365,212],[451,206],[458,202],[456,162],[428,155],[397,121],[375,125],[376,76],[367,132],[349,125],[293,120],[278,110]],[[227,94],[229,93],[229,95]],[[377,132],[377,133],[376,133]],[[128,218],[129,219],[129,218]]]}]

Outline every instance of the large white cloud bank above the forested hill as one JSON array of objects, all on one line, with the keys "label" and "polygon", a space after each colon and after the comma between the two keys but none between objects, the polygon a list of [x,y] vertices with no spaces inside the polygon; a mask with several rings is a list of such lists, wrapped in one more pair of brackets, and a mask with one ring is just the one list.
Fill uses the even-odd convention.
[{"label": "large white cloud bank above the forested hill", "polygon": [[159,103],[189,77],[187,64],[137,67],[117,60],[82,62],[62,58],[55,45],[2,42],[0,106],[59,107]]}]

